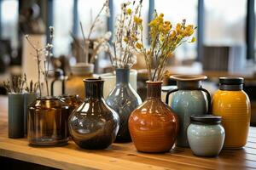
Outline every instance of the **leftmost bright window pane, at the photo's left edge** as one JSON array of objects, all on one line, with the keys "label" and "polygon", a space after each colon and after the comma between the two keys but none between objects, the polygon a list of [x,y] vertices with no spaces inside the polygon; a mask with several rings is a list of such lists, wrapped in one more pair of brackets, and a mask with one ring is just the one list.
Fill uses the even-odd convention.
[{"label": "leftmost bright window pane, at the photo's left edge", "polygon": [[13,48],[18,46],[18,7],[17,0],[2,1],[2,38],[10,39]]}]

